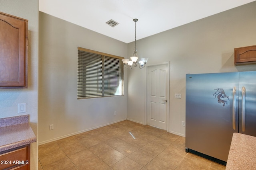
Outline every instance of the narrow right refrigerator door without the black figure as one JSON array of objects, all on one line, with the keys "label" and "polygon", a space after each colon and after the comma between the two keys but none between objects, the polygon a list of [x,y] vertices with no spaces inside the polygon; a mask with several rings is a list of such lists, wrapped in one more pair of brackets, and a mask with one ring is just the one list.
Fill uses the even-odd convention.
[{"label": "narrow right refrigerator door without the black figure", "polygon": [[256,136],[256,71],[239,72],[239,133]]}]

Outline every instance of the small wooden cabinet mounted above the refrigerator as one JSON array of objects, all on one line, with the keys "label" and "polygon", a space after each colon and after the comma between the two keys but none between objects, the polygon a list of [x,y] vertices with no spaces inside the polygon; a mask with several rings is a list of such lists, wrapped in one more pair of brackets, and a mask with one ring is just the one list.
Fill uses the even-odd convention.
[{"label": "small wooden cabinet mounted above the refrigerator", "polygon": [[255,64],[256,45],[234,49],[234,64]]}]

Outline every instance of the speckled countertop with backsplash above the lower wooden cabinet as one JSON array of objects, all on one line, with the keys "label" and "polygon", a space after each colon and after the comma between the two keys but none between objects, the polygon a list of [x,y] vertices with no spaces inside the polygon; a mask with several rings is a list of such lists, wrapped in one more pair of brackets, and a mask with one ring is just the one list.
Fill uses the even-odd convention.
[{"label": "speckled countertop with backsplash above the lower wooden cabinet", "polygon": [[29,115],[0,119],[0,152],[36,142]]}]

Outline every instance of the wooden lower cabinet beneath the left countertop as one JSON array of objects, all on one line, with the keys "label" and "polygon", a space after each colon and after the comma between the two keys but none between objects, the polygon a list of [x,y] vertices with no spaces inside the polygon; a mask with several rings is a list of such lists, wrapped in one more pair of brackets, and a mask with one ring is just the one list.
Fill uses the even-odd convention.
[{"label": "wooden lower cabinet beneath the left countertop", "polygon": [[30,144],[0,152],[0,170],[30,170]]}]

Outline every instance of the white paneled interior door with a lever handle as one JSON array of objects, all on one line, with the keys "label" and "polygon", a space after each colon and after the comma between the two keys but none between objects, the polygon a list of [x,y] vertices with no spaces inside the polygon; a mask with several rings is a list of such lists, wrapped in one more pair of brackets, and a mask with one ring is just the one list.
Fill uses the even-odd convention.
[{"label": "white paneled interior door with a lever handle", "polygon": [[167,130],[169,116],[168,64],[148,66],[148,125]]}]

